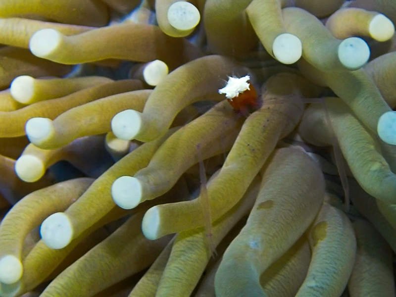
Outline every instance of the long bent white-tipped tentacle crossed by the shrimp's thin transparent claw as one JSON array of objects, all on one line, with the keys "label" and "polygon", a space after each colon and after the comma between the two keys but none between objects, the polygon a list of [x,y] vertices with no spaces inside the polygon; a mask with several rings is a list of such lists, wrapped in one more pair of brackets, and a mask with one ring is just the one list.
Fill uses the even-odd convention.
[{"label": "long bent white-tipped tentacle crossed by the shrimp's thin transparent claw", "polygon": [[[286,82],[289,85],[284,89]],[[278,140],[290,133],[299,121],[303,108],[299,94],[305,93],[309,83],[293,74],[280,74],[270,79],[266,86],[268,90],[262,95],[263,105],[247,118],[221,171],[208,187],[214,220],[242,198]],[[309,90],[308,93],[312,95],[315,92]],[[202,226],[199,203],[199,199],[195,199],[151,208],[143,219],[148,227],[143,232],[154,239]],[[176,217],[175,213],[180,214]],[[188,219],[190,216],[198,220],[191,221]]]}]

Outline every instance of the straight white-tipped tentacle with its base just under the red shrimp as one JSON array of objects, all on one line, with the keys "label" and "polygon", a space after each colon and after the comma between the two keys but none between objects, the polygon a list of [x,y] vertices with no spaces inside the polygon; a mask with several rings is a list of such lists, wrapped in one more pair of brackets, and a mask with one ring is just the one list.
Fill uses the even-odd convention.
[{"label": "straight white-tipped tentacle with its base just under the red shrimp", "polygon": [[[218,129],[223,125],[223,129]],[[147,167],[133,177],[122,176],[111,187],[118,206],[134,208],[169,191],[180,176],[201,158],[227,151],[241,126],[230,104],[222,101],[192,121],[158,148]],[[224,140],[217,142],[222,135]],[[171,152],[171,154],[169,154]]]}]

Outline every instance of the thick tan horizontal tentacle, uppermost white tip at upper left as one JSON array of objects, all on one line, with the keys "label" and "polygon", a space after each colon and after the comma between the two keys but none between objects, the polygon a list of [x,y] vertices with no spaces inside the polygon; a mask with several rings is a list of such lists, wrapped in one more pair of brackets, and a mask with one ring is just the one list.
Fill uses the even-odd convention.
[{"label": "thick tan horizontal tentacle, uppermost white tip at upper left", "polygon": [[29,49],[36,56],[62,64],[109,58],[139,62],[161,59],[172,69],[201,55],[199,49],[187,40],[170,38],[156,26],[136,23],[99,28],[73,36],[43,29],[32,36]]}]

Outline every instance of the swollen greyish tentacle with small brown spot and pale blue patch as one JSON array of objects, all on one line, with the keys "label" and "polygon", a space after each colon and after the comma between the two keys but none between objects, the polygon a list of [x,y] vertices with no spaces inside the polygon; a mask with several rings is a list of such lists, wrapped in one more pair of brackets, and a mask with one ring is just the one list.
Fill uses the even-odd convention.
[{"label": "swollen greyish tentacle with small brown spot and pale blue patch", "polygon": [[[293,180],[302,164],[304,177]],[[281,187],[278,170],[290,175],[287,187]],[[294,192],[297,184],[299,191]],[[303,234],[323,198],[324,181],[316,164],[296,148],[276,151],[246,226],[223,255],[215,277],[216,296],[265,296],[260,274]]]}]

